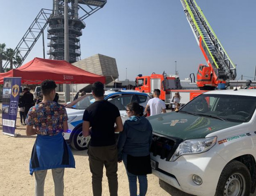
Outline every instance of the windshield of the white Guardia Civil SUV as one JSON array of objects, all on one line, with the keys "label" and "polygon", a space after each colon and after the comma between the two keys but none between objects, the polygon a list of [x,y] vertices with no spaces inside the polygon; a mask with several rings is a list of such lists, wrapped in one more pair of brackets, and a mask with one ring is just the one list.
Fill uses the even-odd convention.
[{"label": "windshield of the white Guardia Civil SUV", "polygon": [[248,122],[256,108],[256,97],[243,95],[202,94],[179,112],[218,118],[224,121]]}]

